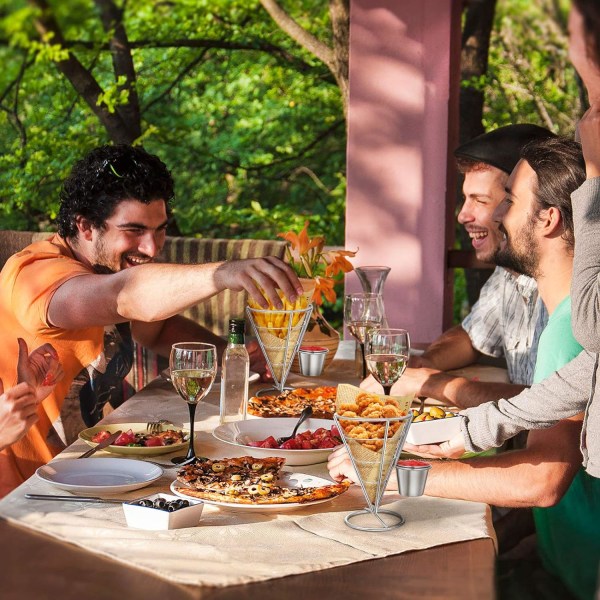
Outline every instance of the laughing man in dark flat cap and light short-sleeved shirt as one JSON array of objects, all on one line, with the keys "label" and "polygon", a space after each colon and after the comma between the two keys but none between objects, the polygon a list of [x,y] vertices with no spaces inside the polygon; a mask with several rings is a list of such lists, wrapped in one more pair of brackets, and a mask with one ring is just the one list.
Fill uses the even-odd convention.
[{"label": "laughing man in dark flat cap and light short-sleeved shirt", "polygon": [[[493,263],[502,234],[492,215],[505,197],[505,186],[527,143],[555,137],[537,125],[508,125],[484,133],[454,151],[464,174],[464,204],[458,214],[472,240],[477,259]],[[539,335],[548,316],[535,281],[496,267],[479,300],[461,325],[452,327],[420,357],[411,359],[395,394],[415,392],[452,406],[469,408],[509,398],[533,381]],[[480,355],[504,357],[510,383],[471,381],[445,371],[470,365]],[[376,390],[371,377],[362,384]]]}]

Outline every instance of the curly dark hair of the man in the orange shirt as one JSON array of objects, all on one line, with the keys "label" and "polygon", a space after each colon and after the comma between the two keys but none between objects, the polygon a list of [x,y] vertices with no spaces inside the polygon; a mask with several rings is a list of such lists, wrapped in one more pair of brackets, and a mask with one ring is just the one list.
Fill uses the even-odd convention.
[{"label": "curly dark hair of the man in the orange shirt", "polygon": [[144,204],[164,200],[170,215],[173,198],[173,178],[160,158],[139,146],[100,146],[76,162],[63,183],[58,233],[63,238],[77,237],[78,216],[100,229],[115,207],[128,199]]}]

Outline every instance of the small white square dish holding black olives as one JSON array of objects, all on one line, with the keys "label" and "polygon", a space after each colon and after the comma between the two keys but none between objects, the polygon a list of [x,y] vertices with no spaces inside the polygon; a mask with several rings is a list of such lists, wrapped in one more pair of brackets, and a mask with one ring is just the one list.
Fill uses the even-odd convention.
[{"label": "small white square dish holding black olives", "polygon": [[[171,494],[152,494],[139,500],[154,501],[158,498],[163,498],[167,502],[172,500],[180,500],[179,497]],[[137,500],[136,500],[137,502]],[[204,503],[200,500],[189,500],[190,505],[185,508],[167,512],[150,506],[140,506],[131,504],[130,502],[123,503],[123,512],[127,520],[128,527],[137,529],[150,529],[154,531],[165,529],[181,529],[182,527],[195,527],[200,521]]]}]

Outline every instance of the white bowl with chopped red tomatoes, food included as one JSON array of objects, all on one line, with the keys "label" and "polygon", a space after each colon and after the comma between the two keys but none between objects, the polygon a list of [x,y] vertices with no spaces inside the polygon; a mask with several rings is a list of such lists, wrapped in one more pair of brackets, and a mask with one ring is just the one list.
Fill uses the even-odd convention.
[{"label": "white bowl with chopped red tomatoes, food included", "polygon": [[289,436],[297,418],[249,419],[224,423],[213,431],[221,442],[236,446],[249,456],[281,456],[290,466],[313,465],[325,462],[334,448],[342,444],[335,423],[329,419],[307,419],[296,436]]}]

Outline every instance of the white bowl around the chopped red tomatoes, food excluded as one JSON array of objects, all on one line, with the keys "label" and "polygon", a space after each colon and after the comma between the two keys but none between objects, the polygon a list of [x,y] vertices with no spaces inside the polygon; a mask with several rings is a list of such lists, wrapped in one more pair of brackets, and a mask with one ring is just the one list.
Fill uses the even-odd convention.
[{"label": "white bowl around the chopped red tomatoes, food excluded", "polygon": [[[295,417],[273,417],[270,419],[248,419],[246,421],[234,421],[219,425],[213,435],[221,442],[231,446],[243,448],[249,456],[264,458],[266,456],[281,456],[285,458],[286,465],[314,465],[325,462],[334,448],[323,448],[314,450],[283,450],[281,448],[255,448],[247,446],[247,441],[258,442],[272,435],[275,439],[292,434],[294,426],[298,422]],[[331,429],[335,423],[329,419],[306,419],[298,429],[303,431],[319,429]],[[340,444],[341,445],[341,444]]]}]

